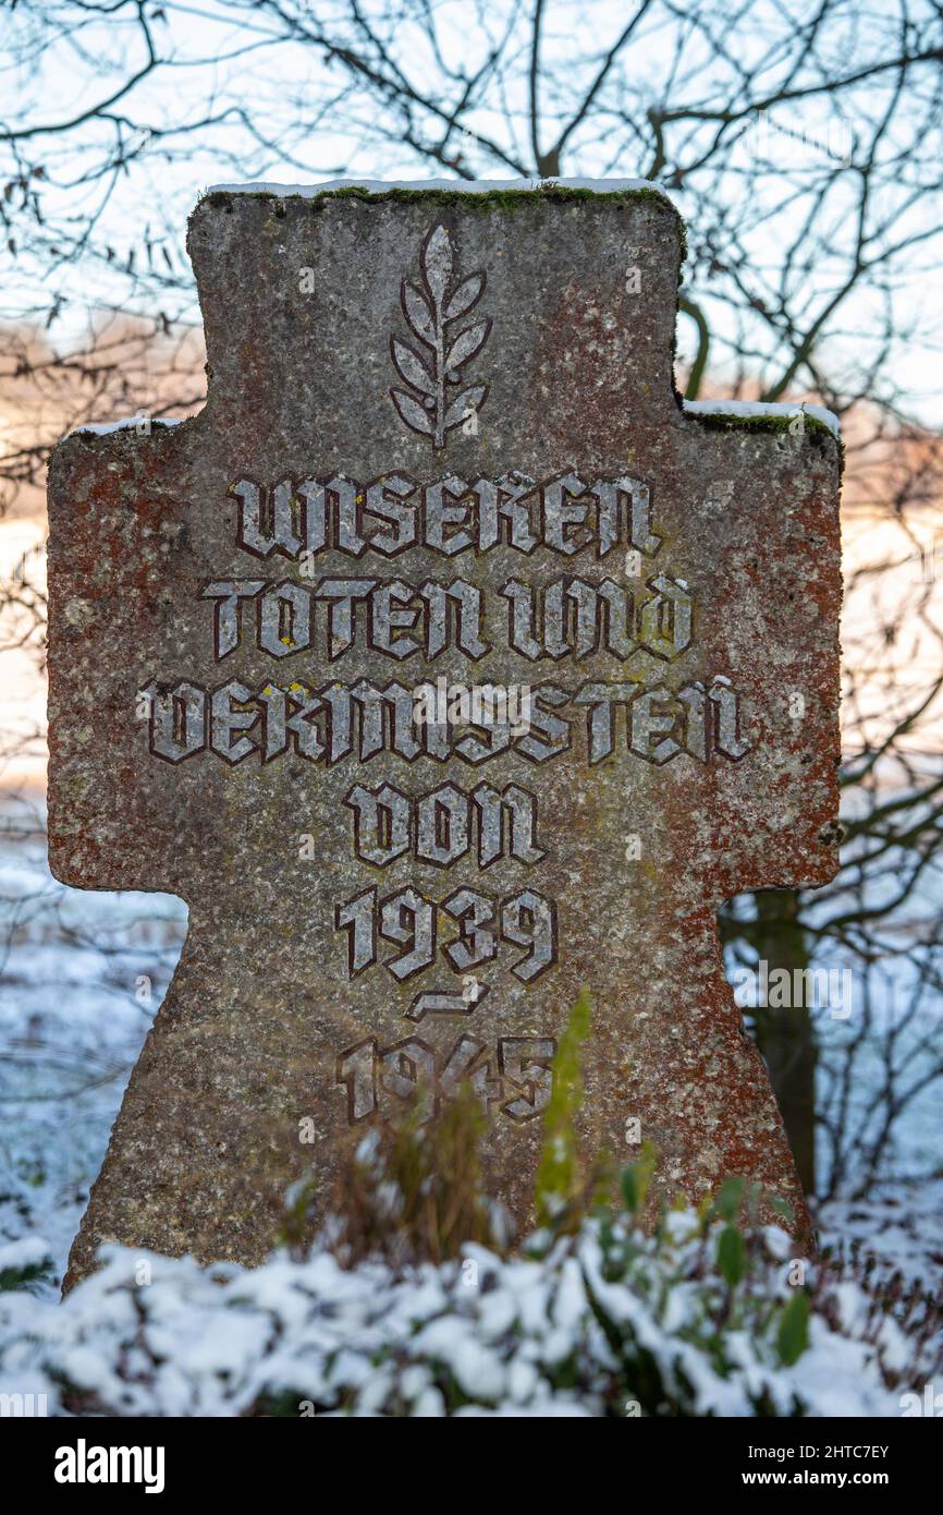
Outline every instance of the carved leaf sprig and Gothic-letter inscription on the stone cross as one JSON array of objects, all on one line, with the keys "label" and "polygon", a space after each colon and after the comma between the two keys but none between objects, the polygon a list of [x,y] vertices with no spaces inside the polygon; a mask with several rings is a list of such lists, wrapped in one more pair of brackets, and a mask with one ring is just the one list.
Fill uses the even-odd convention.
[{"label": "carved leaf sprig and Gothic-letter inscription on the stone cross", "polygon": [[[391,338],[406,386],[391,398],[442,448],[456,426],[477,427],[487,392],[484,383],[460,388],[490,330],[486,318],[463,324],[486,279],[459,276],[442,226],[422,242],[419,273],[403,283],[413,341]],[[501,1117],[530,1121],[549,1097],[552,1038],[471,1029],[487,1024],[495,986],[515,985],[519,997],[566,951],[557,900],[540,888],[552,835],[539,788],[509,782],[503,764],[525,759],[536,774],[563,756],[587,768],[737,762],[749,745],[730,680],[678,671],[690,667],[698,594],[666,561],[651,486],[577,467],[542,482],[522,473],[424,482],[392,468],[372,480],[241,476],[227,495],[245,570],[201,586],[221,677],[209,688],[186,676],[154,679],[141,691],[150,751],[173,765],[289,758],[369,770],[339,801],[363,883],[335,900],[330,927],[347,979],[374,974],[378,994],[397,994],[407,1026],[391,1045],[365,1038],[338,1051],[348,1121],[391,1112],[419,1088],[434,1104],[463,1080]],[[440,576],[410,574],[418,548],[442,561]],[[493,548],[519,554],[521,568],[483,586],[478,565]],[[338,558],[350,559],[347,573]],[[559,571],[548,574],[554,561]],[[481,701],[459,718],[430,718],[436,701],[419,700],[431,689],[425,665],[448,653],[474,680],[495,651],[533,668],[527,720],[518,704],[513,724],[493,718]],[[389,677],[345,679],[345,661],[362,665],[365,654],[374,670],[389,664]],[[259,658],[277,677],[247,682],[239,671],[247,659],[257,670]],[[336,676],[325,682],[327,668]],[[459,762],[468,782],[453,768],[448,782],[416,794],[397,773],[419,759]],[[498,864],[492,889],[487,871]],[[459,865],[483,886],[466,873],[450,886]],[[410,882],[401,867],[437,870],[442,888]],[[519,870],[510,885],[509,870]],[[450,1026],[460,1027],[456,1036]]]}]

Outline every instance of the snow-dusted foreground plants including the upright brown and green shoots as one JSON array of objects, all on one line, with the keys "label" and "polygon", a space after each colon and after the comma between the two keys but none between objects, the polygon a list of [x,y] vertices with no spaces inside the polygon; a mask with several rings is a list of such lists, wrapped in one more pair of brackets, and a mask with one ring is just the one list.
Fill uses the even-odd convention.
[{"label": "snow-dusted foreground plants including the upright brown and green shoots", "polygon": [[259,1268],[107,1248],[54,1304],[36,1294],[42,1244],[0,1251],[0,1394],[44,1394],[58,1415],[899,1413],[940,1368],[938,1310],[802,1262],[740,1179],[655,1215],[654,1151],[584,1179],[587,1032],[581,1003],[554,1068],[540,1230],[516,1253],[463,1091],[374,1129],[313,1239],[316,1185],[298,1185]]}]

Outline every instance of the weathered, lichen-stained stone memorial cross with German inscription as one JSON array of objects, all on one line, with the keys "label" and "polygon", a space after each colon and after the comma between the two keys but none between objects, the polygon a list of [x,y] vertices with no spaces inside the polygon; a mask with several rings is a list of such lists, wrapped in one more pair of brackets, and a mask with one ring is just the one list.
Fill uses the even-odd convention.
[{"label": "weathered, lichen-stained stone memorial cross with German inscription", "polygon": [[70,1279],[257,1262],[463,1082],[527,1224],[581,986],[584,1154],[804,1215],[716,911],[836,870],[839,445],[683,408],[683,241],[618,180],[194,211],[204,409],[50,479],[53,871],[189,906]]}]

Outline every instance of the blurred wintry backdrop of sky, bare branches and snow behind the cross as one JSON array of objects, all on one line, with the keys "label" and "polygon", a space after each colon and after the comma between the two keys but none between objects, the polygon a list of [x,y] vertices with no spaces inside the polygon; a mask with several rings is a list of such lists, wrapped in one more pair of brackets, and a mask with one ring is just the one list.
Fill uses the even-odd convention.
[{"label": "blurred wintry backdrop of sky, bare branches and snow behind the cross", "polygon": [[843,868],[720,924],[823,1238],[943,1274],[941,61],[922,0],[0,5],[0,1239],[65,1256],[186,930],[47,870],[50,447],[200,408],[213,183],[610,176],[687,221],[681,392],[842,418]]}]

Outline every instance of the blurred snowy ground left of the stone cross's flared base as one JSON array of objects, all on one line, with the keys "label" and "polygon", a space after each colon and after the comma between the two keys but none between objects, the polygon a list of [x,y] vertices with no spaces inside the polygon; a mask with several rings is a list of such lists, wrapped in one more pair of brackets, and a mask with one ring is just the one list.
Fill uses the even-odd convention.
[{"label": "blurred snowy ground left of the stone cross's flared base", "polygon": [[185,930],[171,895],[64,888],[41,809],[0,809],[0,1241],[64,1267]]}]

